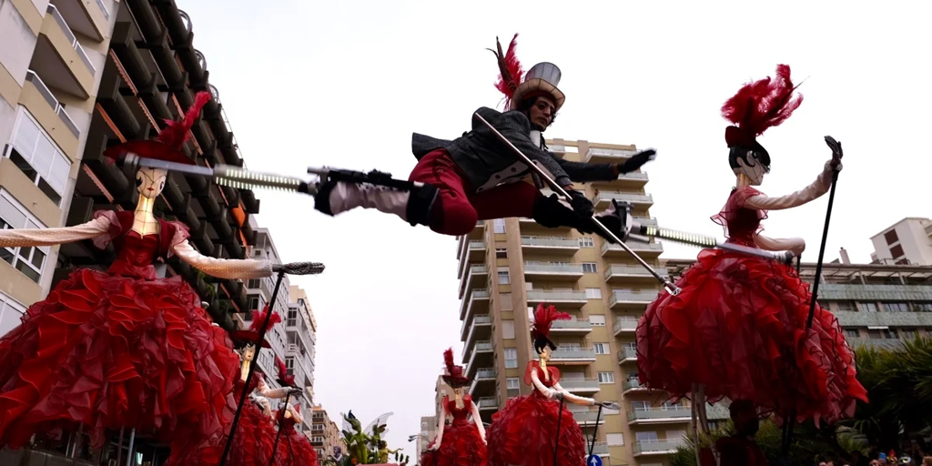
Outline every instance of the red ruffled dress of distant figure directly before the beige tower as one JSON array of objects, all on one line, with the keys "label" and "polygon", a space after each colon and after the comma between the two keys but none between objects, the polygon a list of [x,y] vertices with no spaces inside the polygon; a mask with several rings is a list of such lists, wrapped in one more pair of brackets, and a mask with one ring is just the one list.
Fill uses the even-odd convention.
[{"label": "red ruffled dress of distant figure directly before the beige tower", "polygon": [[[544,377],[537,361],[528,363],[525,383],[533,387],[531,372],[544,387],[553,387],[560,381],[560,371],[547,367],[550,378]],[[557,419],[560,424],[556,432]],[[529,395],[514,397],[492,417],[488,428],[488,462],[493,466],[519,464],[522,466],[553,466],[554,446],[559,439],[556,464],[558,466],[585,466],[585,438],[573,414],[560,402],[551,400],[536,388]]]}]

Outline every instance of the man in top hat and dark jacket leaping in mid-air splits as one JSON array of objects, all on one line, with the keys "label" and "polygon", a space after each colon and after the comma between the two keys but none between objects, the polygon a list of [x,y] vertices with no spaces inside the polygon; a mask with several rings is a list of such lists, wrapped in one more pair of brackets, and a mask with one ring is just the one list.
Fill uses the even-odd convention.
[{"label": "man in top hat and dark jacket leaping in mid-air splits", "polygon": [[[406,184],[386,185],[356,172],[322,173],[315,208],[329,215],[358,207],[377,209],[398,215],[412,226],[430,226],[437,233],[454,236],[472,231],[477,221],[507,217],[533,218],[541,226],[597,231],[592,225],[592,202],[575,190],[572,182],[617,179],[621,173],[637,171],[654,157],[654,151],[644,151],[620,164],[571,162],[548,152],[541,132],[550,127],[566,101],[556,87],[560,69],[554,63],[542,62],[525,75],[514,53],[516,38],[517,34],[507,53],[500,44],[496,52],[500,68],[497,88],[505,95],[507,111],[483,107],[476,115],[567,189],[572,197],[570,207],[556,196],[544,197],[535,185],[518,183],[530,173],[525,161],[516,158],[498,135],[473,117],[473,130],[454,141],[414,134],[412,149],[418,165]],[[610,217],[613,212],[610,209],[600,216]],[[606,225],[619,223],[615,220]]]}]

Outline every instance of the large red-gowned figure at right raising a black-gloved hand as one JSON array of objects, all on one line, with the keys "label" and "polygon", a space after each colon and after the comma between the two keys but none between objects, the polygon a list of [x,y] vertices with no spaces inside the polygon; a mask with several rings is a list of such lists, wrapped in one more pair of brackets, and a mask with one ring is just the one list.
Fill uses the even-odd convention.
[{"label": "large red-gowned figure at right raising a black-gloved hand", "polygon": [[[833,172],[842,169],[841,144],[827,136],[831,158],[811,185],[777,198],[755,187],[771,164],[757,137],[799,107],[802,96],[794,95],[795,89],[789,67],[779,65],[774,77],[747,84],[722,107],[733,123],[725,141],[737,180],[712,220],[724,227],[728,243],[798,256],[805,248],[802,239],[768,238],[761,234],[761,220],[769,210],[824,195]],[[816,422],[850,417],[857,400],[867,401],[838,320],[818,308],[807,329],[813,296],[793,267],[760,255],[707,249],[677,286],[680,294],[663,292],[638,322],[638,377],[674,399],[692,397],[703,424],[706,400],[727,398],[741,413],[792,413]]]}]

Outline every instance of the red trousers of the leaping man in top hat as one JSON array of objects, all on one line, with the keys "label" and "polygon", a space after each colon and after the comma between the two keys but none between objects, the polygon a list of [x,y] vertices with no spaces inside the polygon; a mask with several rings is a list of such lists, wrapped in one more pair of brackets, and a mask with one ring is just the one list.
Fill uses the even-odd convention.
[{"label": "red trousers of the leaping man in top hat", "polygon": [[408,181],[434,185],[440,190],[429,222],[433,231],[443,235],[465,235],[473,231],[480,220],[531,218],[534,203],[543,197],[534,185],[520,182],[467,195],[465,176],[445,149],[437,149],[421,158]]}]

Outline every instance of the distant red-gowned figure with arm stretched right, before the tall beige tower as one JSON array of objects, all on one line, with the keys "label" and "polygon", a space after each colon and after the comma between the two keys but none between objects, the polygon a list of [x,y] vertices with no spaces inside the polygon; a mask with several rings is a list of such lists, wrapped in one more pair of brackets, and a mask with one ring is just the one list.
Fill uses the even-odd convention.
[{"label": "distant red-gowned figure with arm stretched right, before the tall beige tower", "polygon": [[560,371],[547,365],[556,349],[550,339],[554,321],[569,314],[542,304],[534,311],[534,350],[540,362],[528,362],[525,383],[529,395],[512,398],[492,417],[488,428],[488,462],[492,466],[585,466],[583,430],[564,402],[618,409],[617,404],[596,402],[560,387]]}]

